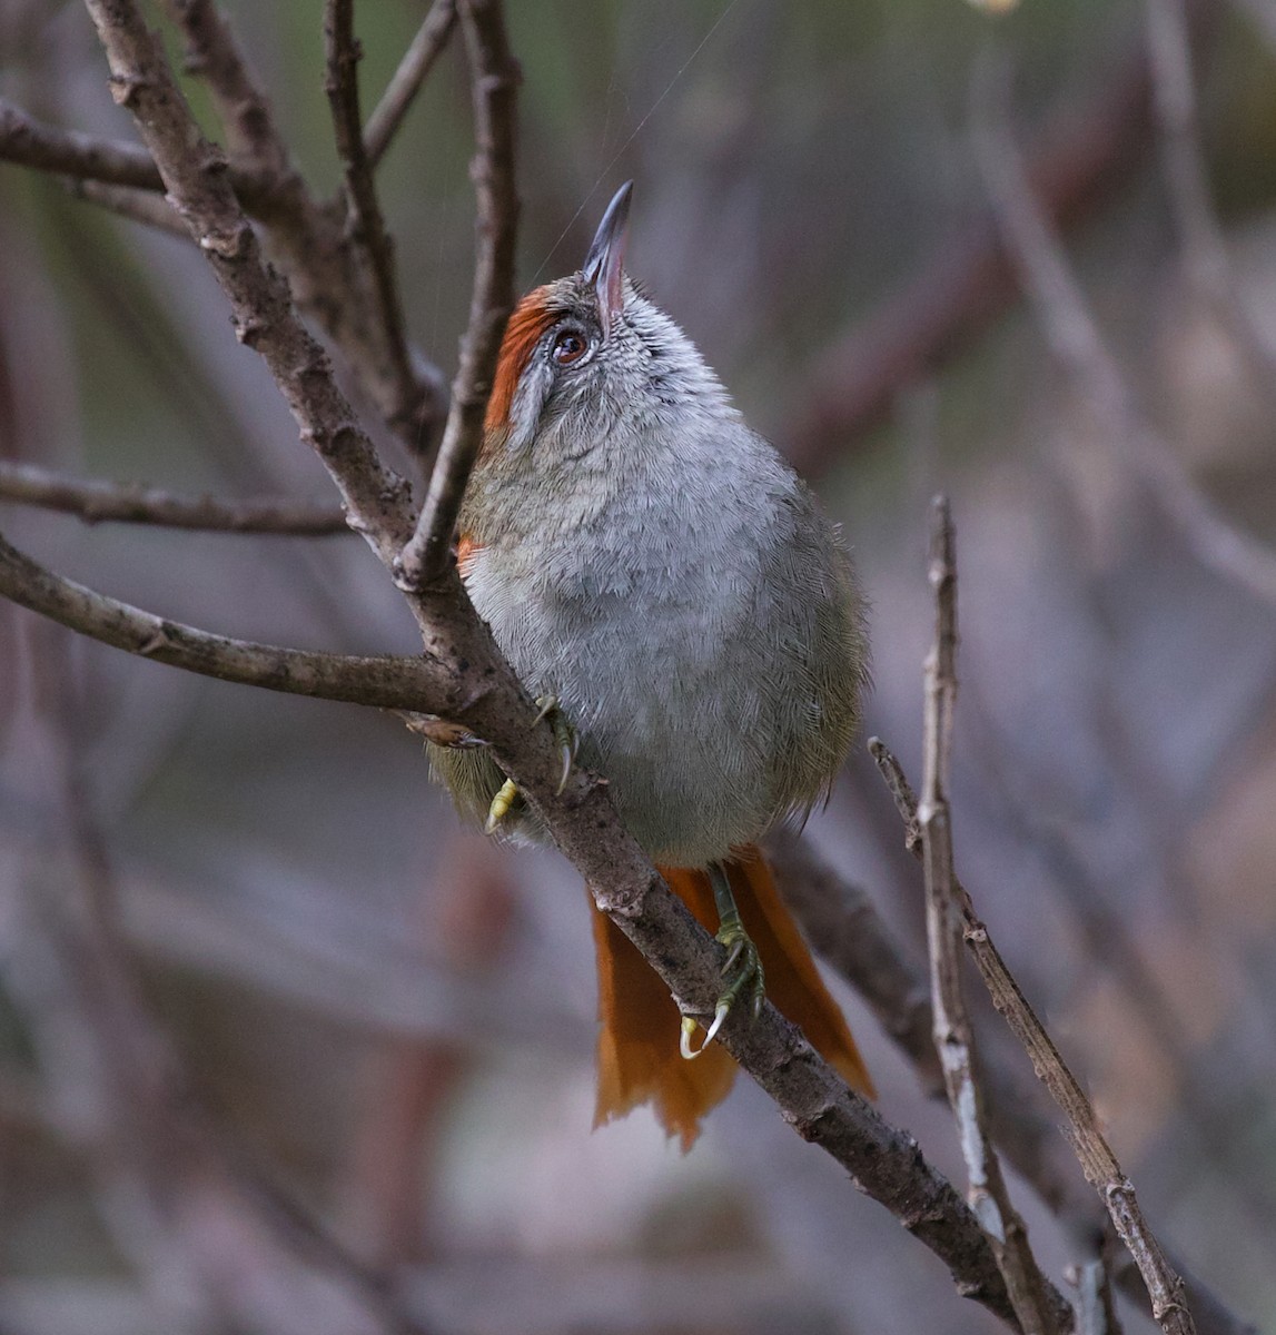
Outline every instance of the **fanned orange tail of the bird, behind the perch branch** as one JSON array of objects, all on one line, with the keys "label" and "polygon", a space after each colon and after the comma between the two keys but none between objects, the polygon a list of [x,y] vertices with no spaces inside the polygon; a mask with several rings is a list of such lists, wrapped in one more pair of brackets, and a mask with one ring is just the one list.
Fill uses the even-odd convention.
[{"label": "fanned orange tail of the bird, behind the perch branch", "polygon": [[[856,1040],[816,972],[766,860],[749,846],[726,862],[731,893],[745,929],[753,937],[766,972],[766,995],[802,1028],[813,1047],[860,1093],[874,1097]],[[697,921],[718,928],[707,873],[661,868],[669,888]],[[594,912],[598,948],[598,1108],[594,1125],[623,1116],[651,1101],[670,1136],[682,1139],[683,1152],[699,1135],[699,1120],[731,1088],[738,1067],[721,1044],[711,1044],[695,1061],[678,1052],[678,1008],[659,975],[603,913]]]}]

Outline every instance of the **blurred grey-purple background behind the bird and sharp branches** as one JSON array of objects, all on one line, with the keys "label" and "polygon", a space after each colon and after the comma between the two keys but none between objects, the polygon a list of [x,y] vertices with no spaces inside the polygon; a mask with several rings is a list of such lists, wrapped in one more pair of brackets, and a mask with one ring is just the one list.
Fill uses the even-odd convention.
[{"label": "blurred grey-purple background behind the bird and sharp branches", "polygon": [[[331,194],[320,5],[226,8]],[[961,876],[1159,1232],[1276,1327],[1276,5],[1188,7],[1187,112],[1175,7],[1133,0],[509,8],[521,284],[577,267],[634,178],[631,274],[845,525],[866,734],[914,780],[950,493]],[[424,12],[356,8],[366,108]],[[0,95],[133,138],[75,4],[0,0]],[[410,335],[448,378],[471,148],[454,37],[378,175]],[[7,164],[0,458],[332,498],[195,248]],[[0,525],[223,634],[419,647],[352,537]],[[0,722],[5,1335],[997,1328],[747,1080],[686,1157],[646,1109],[590,1132],[579,881],[462,830],[396,720],[4,605]],[[920,873],[862,746],[805,838],[921,967]],[[884,1116],[960,1181],[946,1108],[834,987]],[[980,1037],[1032,1087],[990,1012]],[[1058,1280],[1088,1188],[1048,1148],[1062,1222],[1016,1188]]]}]

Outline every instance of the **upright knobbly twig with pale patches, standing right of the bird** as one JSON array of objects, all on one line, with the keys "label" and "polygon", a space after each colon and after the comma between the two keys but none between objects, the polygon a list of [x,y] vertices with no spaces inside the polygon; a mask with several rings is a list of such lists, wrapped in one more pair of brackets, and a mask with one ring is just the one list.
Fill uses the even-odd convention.
[{"label": "upright knobbly twig with pale patches, standing right of the bird", "polygon": [[976,1079],[974,1032],[961,987],[961,910],[953,874],[948,774],[953,708],[957,701],[957,565],[948,501],[937,497],[932,517],[930,587],[934,643],[926,657],[925,777],[917,809],[926,881],[926,940],[934,1045],[944,1067],[948,1101],[957,1119],[966,1163],[966,1200],[992,1246],[1024,1335],[1052,1335],[1056,1323],[1045,1302],[1045,1280],[1028,1230],[1010,1202],[1001,1163],[988,1133],[984,1093]]}]

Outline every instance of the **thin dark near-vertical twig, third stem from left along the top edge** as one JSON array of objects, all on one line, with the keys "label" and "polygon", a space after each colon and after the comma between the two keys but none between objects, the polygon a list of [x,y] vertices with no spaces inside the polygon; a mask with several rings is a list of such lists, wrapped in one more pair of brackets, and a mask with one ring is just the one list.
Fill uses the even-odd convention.
[{"label": "thin dark near-vertical twig, third stem from left along the top edge", "polygon": [[372,164],[363,148],[359,117],[359,60],[363,51],[354,33],[354,0],[327,0],[323,12],[323,45],[327,60],[324,91],[332,108],[336,154],[346,176],[347,235],[354,240],[368,275],[386,359],[400,394],[412,392],[412,364],[407,351],[403,306],[394,272],[394,242],[376,198]]}]

